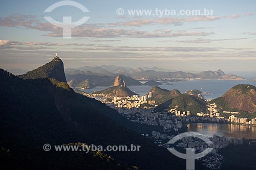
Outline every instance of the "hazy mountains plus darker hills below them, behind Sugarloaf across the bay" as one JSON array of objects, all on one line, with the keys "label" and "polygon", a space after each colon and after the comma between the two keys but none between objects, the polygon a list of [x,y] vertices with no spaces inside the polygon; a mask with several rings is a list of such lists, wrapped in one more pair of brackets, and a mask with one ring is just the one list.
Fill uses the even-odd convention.
[{"label": "hazy mountains plus darker hills below them, behind Sugarloaf across the bay", "polygon": [[[207,79],[207,80],[245,80],[242,77],[228,74],[226,75],[222,70],[217,71],[203,71],[199,74],[192,74],[190,72],[175,71],[164,72],[158,67],[153,67],[155,70],[144,70],[142,68],[118,67],[115,65],[103,65],[97,67],[84,66],[81,68],[68,68],[65,70],[68,84],[71,87],[77,88],[92,88],[94,86],[112,86],[117,75],[120,75],[126,82],[126,86],[156,86],[160,85],[155,80],[181,81],[188,79]],[[142,84],[138,80],[149,80]],[[86,83],[84,83],[86,81]],[[153,82],[154,81],[154,82]],[[87,84],[89,84],[87,86]]]}]

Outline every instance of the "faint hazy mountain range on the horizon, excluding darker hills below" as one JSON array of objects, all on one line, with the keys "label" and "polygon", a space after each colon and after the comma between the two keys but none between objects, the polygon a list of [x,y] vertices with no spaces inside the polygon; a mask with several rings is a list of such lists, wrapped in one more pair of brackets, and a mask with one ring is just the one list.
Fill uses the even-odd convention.
[{"label": "faint hazy mountain range on the horizon, excluding darker hills below", "polygon": [[217,71],[203,71],[198,74],[183,71],[170,71],[158,67],[152,68],[131,68],[131,67],[119,67],[115,65],[103,65],[97,67],[84,66],[81,68],[68,68],[65,69],[67,77],[71,75],[90,75],[90,76],[109,76],[115,77],[117,75],[123,75],[138,80],[158,80],[158,79],[214,79],[214,80],[245,80],[242,77],[228,74],[226,75],[222,70]]}]

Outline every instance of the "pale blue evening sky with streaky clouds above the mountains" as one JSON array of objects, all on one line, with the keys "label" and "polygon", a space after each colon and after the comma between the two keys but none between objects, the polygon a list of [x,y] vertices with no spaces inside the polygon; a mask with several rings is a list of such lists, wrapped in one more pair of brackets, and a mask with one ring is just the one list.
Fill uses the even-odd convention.
[{"label": "pale blue evening sky with streaky clouds above the mountains", "polygon": [[[32,70],[58,53],[65,68],[114,64],[256,71],[256,1],[77,0],[89,11],[60,6],[44,12],[58,2],[1,0],[1,68]],[[203,13],[205,9],[212,15]],[[131,10],[151,14],[132,15]],[[193,15],[193,10],[201,14]],[[72,22],[89,19],[72,28],[71,38],[66,39],[63,28],[46,16],[59,22],[66,16]]]}]

